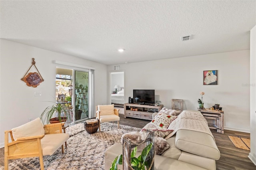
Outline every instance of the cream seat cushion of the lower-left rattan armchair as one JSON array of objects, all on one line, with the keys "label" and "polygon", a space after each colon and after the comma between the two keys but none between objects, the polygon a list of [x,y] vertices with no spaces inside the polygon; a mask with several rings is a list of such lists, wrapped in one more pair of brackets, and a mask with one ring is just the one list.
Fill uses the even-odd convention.
[{"label": "cream seat cushion of the lower-left rattan armchair", "polygon": [[41,139],[43,155],[52,155],[68,138],[68,133],[46,134]]}]

